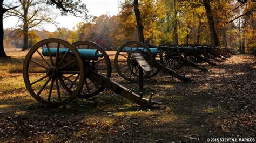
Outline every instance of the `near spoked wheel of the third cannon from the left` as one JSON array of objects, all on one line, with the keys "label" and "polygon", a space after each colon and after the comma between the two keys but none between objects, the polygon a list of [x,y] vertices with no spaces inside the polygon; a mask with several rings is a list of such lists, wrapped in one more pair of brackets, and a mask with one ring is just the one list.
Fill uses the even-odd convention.
[{"label": "near spoked wheel of the third cannon from the left", "polygon": [[[170,48],[171,47],[171,48]],[[163,56],[163,65],[170,69],[176,69],[181,65],[181,53],[176,45],[166,42],[157,47]]]}]

